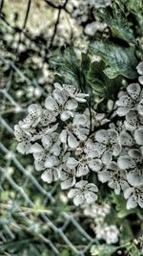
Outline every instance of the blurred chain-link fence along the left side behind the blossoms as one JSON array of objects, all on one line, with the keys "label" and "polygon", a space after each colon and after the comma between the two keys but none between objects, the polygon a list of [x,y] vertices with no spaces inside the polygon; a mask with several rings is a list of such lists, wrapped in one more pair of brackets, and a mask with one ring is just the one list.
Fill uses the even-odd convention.
[{"label": "blurred chain-link fence along the left side behind the blossoms", "polygon": [[96,243],[89,222],[58,184],[40,180],[13,136],[27,106],[51,90],[52,50],[87,39],[72,1],[57,2],[0,1],[0,255],[90,255]]}]

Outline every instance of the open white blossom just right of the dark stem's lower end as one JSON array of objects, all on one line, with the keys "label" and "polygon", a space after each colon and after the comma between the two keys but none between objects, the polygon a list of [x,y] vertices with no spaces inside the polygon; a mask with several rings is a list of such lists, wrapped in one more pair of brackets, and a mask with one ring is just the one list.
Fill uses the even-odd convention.
[{"label": "open white blossom just right of the dark stem's lower end", "polygon": [[112,161],[112,155],[117,156],[121,151],[119,136],[115,129],[99,129],[95,133],[96,151],[102,155],[101,160],[104,164]]}]

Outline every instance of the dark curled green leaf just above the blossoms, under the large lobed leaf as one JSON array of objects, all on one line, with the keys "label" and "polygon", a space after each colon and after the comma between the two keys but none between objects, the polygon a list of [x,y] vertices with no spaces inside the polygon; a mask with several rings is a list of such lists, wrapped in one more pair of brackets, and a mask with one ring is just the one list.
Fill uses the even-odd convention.
[{"label": "dark curled green leaf just above the blossoms, under the large lobed leaf", "polygon": [[100,97],[114,100],[119,91],[121,81],[120,78],[110,80],[105,76],[103,72],[104,69],[105,63],[102,60],[92,62],[88,72],[88,81],[92,85],[92,89]]}]

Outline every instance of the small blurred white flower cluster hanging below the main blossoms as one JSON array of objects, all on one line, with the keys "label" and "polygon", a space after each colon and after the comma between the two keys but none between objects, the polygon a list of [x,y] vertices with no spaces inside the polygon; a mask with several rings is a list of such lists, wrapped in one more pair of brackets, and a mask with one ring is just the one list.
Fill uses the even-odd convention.
[{"label": "small blurred white flower cluster hanging below the main blossoms", "polygon": [[118,242],[119,230],[116,225],[108,224],[105,219],[111,212],[109,204],[97,204],[84,206],[84,216],[92,219],[91,228],[97,240],[104,240],[106,244]]}]

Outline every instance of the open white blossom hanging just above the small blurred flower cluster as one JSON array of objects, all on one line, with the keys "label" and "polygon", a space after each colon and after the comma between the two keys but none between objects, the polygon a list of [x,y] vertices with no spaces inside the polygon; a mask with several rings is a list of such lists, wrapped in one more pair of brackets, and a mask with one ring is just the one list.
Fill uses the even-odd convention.
[{"label": "open white blossom hanging just above the small blurred flower cluster", "polygon": [[95,194],[97,191],[98,189],[95,184],[88,183],[87,180],[80,180],[70,190],[68,197],[73,198],[75,205],[92,203],[97,199],[97,195]]}]

